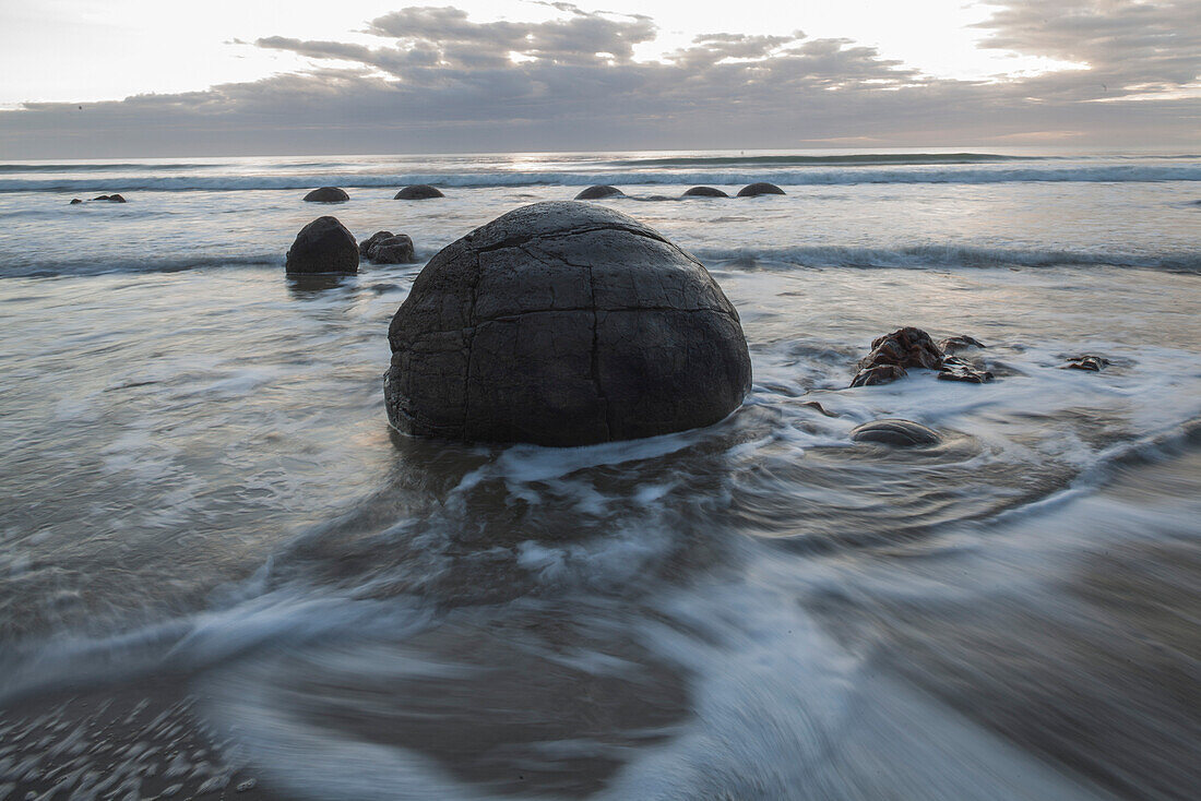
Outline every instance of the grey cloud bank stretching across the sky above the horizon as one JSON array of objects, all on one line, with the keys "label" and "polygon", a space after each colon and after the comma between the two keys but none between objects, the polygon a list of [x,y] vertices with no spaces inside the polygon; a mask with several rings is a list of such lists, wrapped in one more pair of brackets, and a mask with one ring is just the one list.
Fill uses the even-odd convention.
[{"label": "grey cloud bank stretching across the sky above the horizon", "polygon": [[[1076,2],[1056,6],[1040,26],[1045,10],[1011,0],[986,23],[988,47],[1095,64],[998,82],[932,79],[874,48],[800,31],[710,34],[662,61],[638,61],[634,46],[656,35],[649,18],[546,5],[560,16],[542,23],[404,8],[371,20],[375,47],[262,38],[258,47],[329,66],[85,103],[83,112],[28,103],[0,113],[0,148],[38,157],[785,148],[829,139],[1137,143],[1199,135],[1195,98],[1122,100],[1178,91],[1195,79],[1197,47],[1189,43],[1199,28],[1175,30],[1170,22],[1193,19],[1196,2],[1104,4],[1122,24],[1106,23],[1101,4]],[[1065,7],[1076,11],[1060,13]],[[1131,29],[1135,19],[1146,20],[1143,30]]]}]

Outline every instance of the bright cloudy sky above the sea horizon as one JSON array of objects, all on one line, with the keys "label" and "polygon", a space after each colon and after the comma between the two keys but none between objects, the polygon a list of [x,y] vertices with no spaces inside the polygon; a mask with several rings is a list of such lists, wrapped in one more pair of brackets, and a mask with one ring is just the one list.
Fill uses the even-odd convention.
[{"label": "bright cloudy sky above the sea horizon", "polygon": [[1201,144],[1201,0],[0,0],[0,157]]}]

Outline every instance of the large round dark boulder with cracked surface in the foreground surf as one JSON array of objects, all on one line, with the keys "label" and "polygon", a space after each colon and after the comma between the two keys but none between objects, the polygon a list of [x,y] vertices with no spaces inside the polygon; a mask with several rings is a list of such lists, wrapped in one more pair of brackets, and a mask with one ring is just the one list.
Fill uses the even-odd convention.
[{"label": "large round dark boulder with cracked surface in the foreground surf", "polygon": [[586,446],[717,423],[751,389],[733,304],[695,258],[588,203],[509,211],[437,253],[388,329],[406,434]]}]

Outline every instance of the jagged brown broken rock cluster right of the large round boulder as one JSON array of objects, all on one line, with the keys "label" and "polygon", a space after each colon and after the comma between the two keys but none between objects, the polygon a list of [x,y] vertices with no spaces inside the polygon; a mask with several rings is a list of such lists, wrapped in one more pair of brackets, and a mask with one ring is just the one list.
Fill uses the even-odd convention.
[{"label": "jagged brown broken rock cluster right of the large round boulder", "polygon": [[980,370],[957,357],[946,355],[948,352],[972,347],[985,347],[985,345],[970,336],[952,336],[936,345],[930,334],[920,328],[901,328],[872,342],[872,352],[860,359],[859,372],[855,373],[850,385],[886,384],[909,375],[907,367],[938,370],[942,381],[975,384],[992,381],[993,375],[987,370]]}]

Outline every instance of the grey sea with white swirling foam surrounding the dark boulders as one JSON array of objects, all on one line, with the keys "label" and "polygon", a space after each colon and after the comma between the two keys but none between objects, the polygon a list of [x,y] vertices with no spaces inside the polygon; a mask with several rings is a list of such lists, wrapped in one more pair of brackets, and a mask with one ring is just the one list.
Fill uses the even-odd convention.
[{"label": "grey sea with white swirling foam surrounding the dark boulders", "polygon": [[[742,407],[389,429],[424,262],[592,184],[737,307]],[[419,262],[286,277],[325,214]],[[1201,793],[1201,155],[5,162],[0,310],[0,799]],[[996,381],[848,388],[903,325]]]}]

